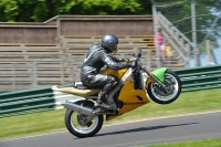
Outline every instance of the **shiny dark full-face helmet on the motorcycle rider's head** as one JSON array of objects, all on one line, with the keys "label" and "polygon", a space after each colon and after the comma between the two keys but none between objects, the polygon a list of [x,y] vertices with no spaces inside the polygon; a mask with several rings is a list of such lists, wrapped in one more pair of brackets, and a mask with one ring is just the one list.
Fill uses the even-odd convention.
[{"label": "shiny dark full-face helmet on the motorcycle rider's head", "polygon": [[106,34],[102,38],[102,46],[110,53],[117,52],[118,39],[114,34]]}]

